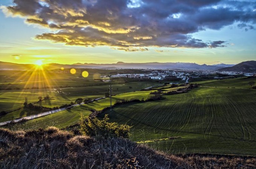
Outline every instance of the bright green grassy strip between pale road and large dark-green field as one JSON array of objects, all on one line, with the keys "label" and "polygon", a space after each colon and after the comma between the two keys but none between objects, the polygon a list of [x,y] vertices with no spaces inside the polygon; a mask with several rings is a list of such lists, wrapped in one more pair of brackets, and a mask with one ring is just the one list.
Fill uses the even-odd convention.
[{"label": "bright green grassy strip between pale road and large dark-green field", "polygon": [[[149,97],[149,94],[152,91],[138,91],[138,92],[130,92],[130,93],[124,93],[120,95],[116,95],[112,97],[113,104],[117,100],[130,100],[130,99],[146,99]],[[77,124],[80,118],[80,113],[85,113],[85,115],[89,116],[90,109],[95,109],[95,110],[102,110],[105,107],[109,107],[109,98],[95,101],[93,103],[89,104],[83,104],[80,106],[76,106],[72,108],[71,110],[65,110],[63,112],[57,112],[52,115],[44,116],[42,118],[38,119],[33,119],[31,121],[23,122],[20,124],[14,124],[9,126],[8,128],[12,128],[16,130],[17,128],[19,129],[30,129],[30,128],[38,128],[38,127],[48,127],[48,126],[57,126],[60,128],[65,128],[69,125],[74,125]],[[28,110],[27,110],[28,111]],[[21,115],[21,110],[17,111],[19,112],[18,115]],[[5,118],[12,118],[12,115],[17,112],[12,112],[8,113],[7,115],[3,116]],[[26,116],[28,113],[24,113],[23,116]],[[29,112],[29,115],[31,115],[32,112]],[[35,114],[35,113],[34,113]],[[0,119],[1,121],[4,121],[4,119]]]}]

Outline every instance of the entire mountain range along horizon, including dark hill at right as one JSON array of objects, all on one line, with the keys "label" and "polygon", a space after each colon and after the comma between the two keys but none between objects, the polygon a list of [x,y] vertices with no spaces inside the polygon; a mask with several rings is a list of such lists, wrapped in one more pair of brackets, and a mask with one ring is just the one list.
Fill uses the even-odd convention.
[{"label": "entire mountain range along horizon, including dark hill at right", "polygon": [[[117,62],[111,64],[96,64],[96,63],[75,63],[72,65],[49,63],[45,64],[44,67],[51,69],[60,68],[92,68],[92,69],[185,69],[185,70],[220,70],[220,71],[245,71],[251,72],[256,68],[256,61],[246,61],[237,65],[228,65],[220,63],[217,65],[199,65],[197,63],[182,63],[182,62],[149,62],[149,63],[125,63]],[[0,70],[8,69],[19,69],[19,70],[30,70],[34,69],[33,64],[18,64],[9,62],[0,62]],[[237,70],[236,70],[237,69]]]}]

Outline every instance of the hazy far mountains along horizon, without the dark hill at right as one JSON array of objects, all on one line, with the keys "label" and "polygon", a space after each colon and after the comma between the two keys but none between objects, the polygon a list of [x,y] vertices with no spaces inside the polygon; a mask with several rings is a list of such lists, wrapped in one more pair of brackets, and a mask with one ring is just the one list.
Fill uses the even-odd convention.
[{"label": "hazy far mountains along horizon, without the dark hill at right", "polygon": [[[33,64],[17,64],[9,62],[0,62],[0,69],[23,69],[29,70],[34,69],[35,65]],[[182,63],[182,62],[149,62],[149,63],[125,63],[117,62],[111,64],[96,64],[96,63],[75,63],[72,65],[63,65],[58,63],[45,64],[45,68],[60,69],[60,68],[91,68],[91,69],[184,69],[184,70],[216,70],[222,68],[222,66],[216,65],[199,65],[197,63]]]}]

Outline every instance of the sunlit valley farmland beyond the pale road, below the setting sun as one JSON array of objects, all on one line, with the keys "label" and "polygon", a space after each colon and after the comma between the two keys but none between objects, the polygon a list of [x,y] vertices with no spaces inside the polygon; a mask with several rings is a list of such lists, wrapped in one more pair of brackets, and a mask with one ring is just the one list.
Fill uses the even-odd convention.
[{"label": "sunlit valley farmland beyond the pale road, below the setting sun", "polygon": [[[101,70],[87,69],[88,77],[82,77],[84,69],[77,69],[71,74],[69,69],[52,71],[1,71],[0,72],[0,112],[10,112],[0,116],[0,122],[40,113],[38,110],[23,109],[25,98],[28,104],[35,106],[57,107],[69,104],[77,98],[95,99],[104,97],[109,90],[108,75],[126,72],[143,72],[140,70]],[[104,73],[104,74],[103,74]],[[103,77],[101,77],[103,75]],[[121,94],[161,86],[155,81],[139,81],[126,78],[111,79],[113,94]],[[49,97],[39,101],[39,97]],[[39,102],[38,102],[39,101]]]}]

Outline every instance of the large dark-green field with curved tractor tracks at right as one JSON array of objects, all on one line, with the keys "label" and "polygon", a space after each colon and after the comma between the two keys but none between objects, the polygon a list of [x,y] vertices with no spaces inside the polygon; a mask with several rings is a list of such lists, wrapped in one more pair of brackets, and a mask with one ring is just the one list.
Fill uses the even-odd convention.
[{"label": "large dark-green field with curved tractor tracks at right", "polygon": [[[159,150],[256,155],[255,105],[254,90],[198,88],[161,101],[120,105],[104,114],[112,122],[132,125],[132,140]],[[168,140],[150,142],[158,139]]]}]

